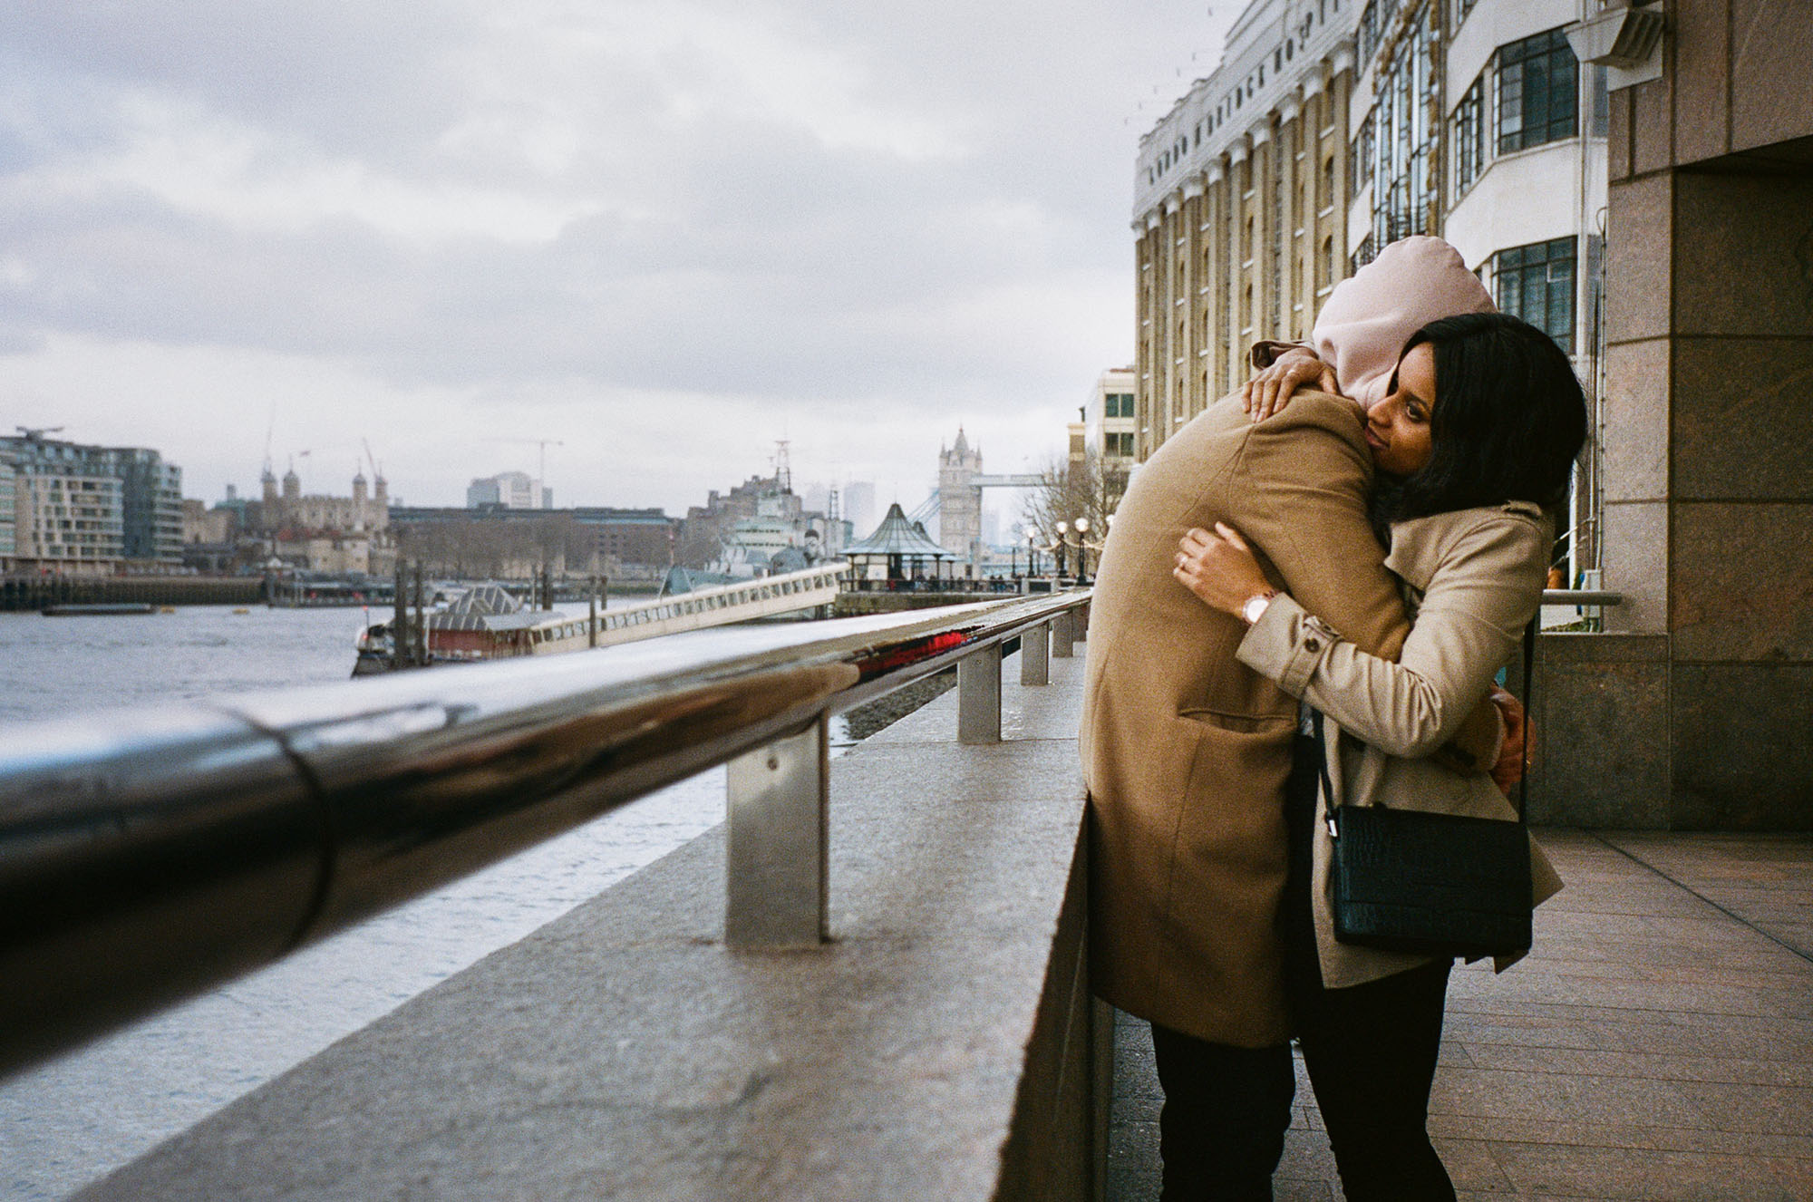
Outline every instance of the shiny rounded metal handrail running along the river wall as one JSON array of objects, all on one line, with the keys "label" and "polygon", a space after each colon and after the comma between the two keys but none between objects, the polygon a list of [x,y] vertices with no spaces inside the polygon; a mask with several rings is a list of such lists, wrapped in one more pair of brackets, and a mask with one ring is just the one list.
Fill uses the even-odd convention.
[{"label": "shiny rounded metal handrail running along the river wall", "polygon": [[[1021,636],[1023,680],[1042,683],[1044,631],[1070,654],[1088,596],[734,627],[709,649],[649,640],[4,732],[0,1071],[727,761],[727,932],[809,939],[810,912],[778,930],[749,903],[740,917],[736,876],[798,877],[823,930],[827,716],[959,662],[965,703],[986,703],[972,667],[992,664],[992,736],[986,714],[959,727],[999,740],[1001,644]],[[816,776],[765,778],[787,771],[776,749],[807,749]],[[761,832],[785,821],[810,841],[798,810],[814,798],[816,847]],[[781,852],[778,868],[761,859]],[[816,877],[792,863],[814,854]],[[790,905],[756,885],[761,906]]]}]

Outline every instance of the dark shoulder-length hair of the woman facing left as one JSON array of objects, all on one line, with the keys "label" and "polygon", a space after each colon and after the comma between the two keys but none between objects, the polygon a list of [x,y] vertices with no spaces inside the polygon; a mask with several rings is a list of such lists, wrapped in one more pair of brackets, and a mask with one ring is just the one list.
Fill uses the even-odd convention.
[{"label": "dark shoulder-length hair of the woman facing left", "polygon": [[1374,520],[1507,500],[1559,506],[1586,441],[1586,397],[1554,339],[1510,314],[1459,314],[1430,321],[1403,350],[1423,343],[1436,355],[1429,462],[1382,480]]}]

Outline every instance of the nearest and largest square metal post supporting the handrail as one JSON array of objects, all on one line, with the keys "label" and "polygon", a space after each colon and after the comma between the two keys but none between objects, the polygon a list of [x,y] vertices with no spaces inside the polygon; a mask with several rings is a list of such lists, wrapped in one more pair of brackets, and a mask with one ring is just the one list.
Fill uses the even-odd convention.
[{"label": "nearest and largest square metal post supporting the handrail", "polygon": [[827,749],[819,714],[800,734],[729,763],[723,941],[732,948],[825,939]]}]

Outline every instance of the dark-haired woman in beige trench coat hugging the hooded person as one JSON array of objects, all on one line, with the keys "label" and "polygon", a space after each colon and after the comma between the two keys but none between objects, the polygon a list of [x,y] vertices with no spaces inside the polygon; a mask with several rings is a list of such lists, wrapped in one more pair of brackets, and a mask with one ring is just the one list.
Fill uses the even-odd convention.
[{"label": "dark-haired woman in beige trench coat hugging the hooded person", "polygon": [[[1398,662],[1358,651],[1271,586],[1242,537],[1189,531],[1173,575],[1249,624],[1238,658],[1302,698],[1287,785],[1285,995],[1347,1198],[1452,1198],[1427,1110],[1450,961],[1340,943],[1329,901],[1336,805],[1514,819],[1485,776],[1429,760],[1492,687],[1541,604],[1554,511],[1586,404],[1548,335],[1503,314],[1420,328],[1365,417],[1374,528],[1412,631]],[[1264,551],[1264,548],[1260,548]],[[1334,796],[1318,787],[1327,772]],[[1534,901],[1559,879],[1532,847]]]}]

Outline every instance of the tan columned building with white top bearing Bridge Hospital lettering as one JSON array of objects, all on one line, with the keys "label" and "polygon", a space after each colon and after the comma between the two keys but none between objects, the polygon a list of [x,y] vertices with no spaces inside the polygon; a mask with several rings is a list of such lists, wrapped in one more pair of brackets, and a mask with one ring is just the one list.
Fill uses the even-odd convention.
[{"label": "tan columned building with white top bearing Bridge Hospital lettering", "polygon": [[1135,455],[1300,337],[1347,272],[1354,0],[1255,0],[1222,65],[1142,140],[1133,185]]}]

